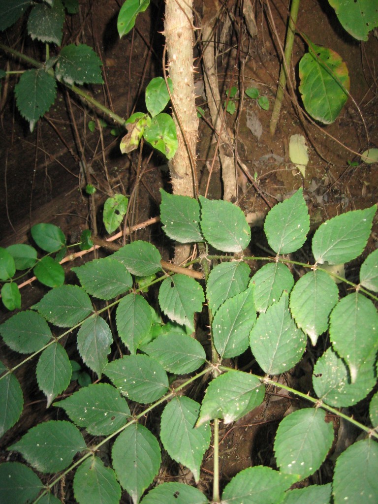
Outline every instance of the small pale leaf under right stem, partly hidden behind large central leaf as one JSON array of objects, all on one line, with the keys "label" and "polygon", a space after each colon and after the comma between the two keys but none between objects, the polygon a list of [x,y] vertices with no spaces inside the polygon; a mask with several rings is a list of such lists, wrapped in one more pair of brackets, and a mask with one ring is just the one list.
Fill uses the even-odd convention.
[{"label": "small pale leaf under right stem, partly hidden behind large central leaf", "polygon": [[287,266],[282,263],[269,263],[260,268],[250,279],[255,284],[255,307],[265,312],[272,303],[280,299],[282,292],[290,292],[294,278]]}]

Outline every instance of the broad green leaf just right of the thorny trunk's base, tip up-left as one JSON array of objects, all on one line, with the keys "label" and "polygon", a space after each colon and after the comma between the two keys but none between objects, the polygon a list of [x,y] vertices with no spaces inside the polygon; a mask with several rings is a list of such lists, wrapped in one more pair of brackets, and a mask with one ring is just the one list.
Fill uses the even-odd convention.
[{"label": "broad green leaf just right of the thorny trunk's base, tip up-left", "polygon": [[241,253],[250,241],[243,212],[229,201],[199,197],[201,229],[206,240],[223,252]]}]

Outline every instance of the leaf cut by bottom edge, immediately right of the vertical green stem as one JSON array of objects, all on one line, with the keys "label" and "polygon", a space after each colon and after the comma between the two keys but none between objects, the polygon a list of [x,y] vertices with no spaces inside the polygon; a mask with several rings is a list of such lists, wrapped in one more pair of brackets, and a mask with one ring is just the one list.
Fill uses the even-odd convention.
[{"label": "leaf cut by bottom edge, immediately right of the vertical green stem", "polygon": [[295,477],[274,471],[270,467],[248,467],[226,485],[222,493],[222,504],[281,502],[285,490],[295,481]]}]

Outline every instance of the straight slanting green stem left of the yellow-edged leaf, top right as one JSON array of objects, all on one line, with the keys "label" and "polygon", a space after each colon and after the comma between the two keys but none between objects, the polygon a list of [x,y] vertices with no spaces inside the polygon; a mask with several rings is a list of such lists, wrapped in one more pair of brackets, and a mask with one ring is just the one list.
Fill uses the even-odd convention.
[{"label": "straight slanting green stem left of the yellow-edged leaf, top right", "polygon": [[278,81],[278,88],[276,94],[276,100],[274,102],[272,117],[270,119],[270,132],[271,135],[274,135],[277,128],[278,118],[280,116],[283,93],[286,86],[286,80],[288,78],[289,65],[291,59],[291,51],[293,49],[294,43],[294,35],[295,35],[295,24],[298,17],[299,10],[299,2],[300,0],[292,0],[291,8],[290,8],[290,17],[289,17],[289,25],[286,34],[285,41],[285,52],[282,61],[281,71],[280,71],[280,79]]}]

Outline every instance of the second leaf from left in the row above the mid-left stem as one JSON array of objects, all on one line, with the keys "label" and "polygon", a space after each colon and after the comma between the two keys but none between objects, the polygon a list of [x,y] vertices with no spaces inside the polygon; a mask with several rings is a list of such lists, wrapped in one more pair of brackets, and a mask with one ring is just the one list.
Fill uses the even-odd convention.
[{"label": "second leaf from left in the row above the mid-left stem", "polygon": [[32,308],[58,327],[75,326],[93,313],[88,294],[77,285],[55,287]]}]

